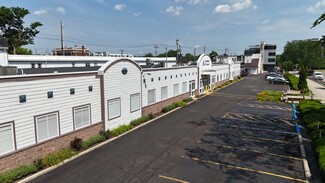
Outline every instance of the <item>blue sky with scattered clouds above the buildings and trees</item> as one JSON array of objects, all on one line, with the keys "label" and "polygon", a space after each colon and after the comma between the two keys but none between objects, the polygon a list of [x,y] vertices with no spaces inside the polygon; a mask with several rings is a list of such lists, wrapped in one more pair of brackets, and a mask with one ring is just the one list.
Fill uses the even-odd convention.
[{"label": "blue sky with scattered clouds above the buildings and trees", "polygon": [[325,23],[310,29],[325,10],[325,0],[0,0],[0,5],[30,11],[25,22],[44,25],[33,52],[60,47],[60,21],[65,46],[84,45],[91,51],[143,55],[176,48],[182,53],[243,54],[260,41],[277,44],[319,38]]}]

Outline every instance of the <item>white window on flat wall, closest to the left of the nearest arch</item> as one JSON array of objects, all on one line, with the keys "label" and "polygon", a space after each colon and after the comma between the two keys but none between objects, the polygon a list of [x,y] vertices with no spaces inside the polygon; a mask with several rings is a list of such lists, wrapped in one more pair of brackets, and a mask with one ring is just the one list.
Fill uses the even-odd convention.
[{"label": "white window on flat wall, closest to the left of the nearest arch", "polygon": [[74,108],[74,124],[75,129],[79,129],[90,124],[90,105]]}]

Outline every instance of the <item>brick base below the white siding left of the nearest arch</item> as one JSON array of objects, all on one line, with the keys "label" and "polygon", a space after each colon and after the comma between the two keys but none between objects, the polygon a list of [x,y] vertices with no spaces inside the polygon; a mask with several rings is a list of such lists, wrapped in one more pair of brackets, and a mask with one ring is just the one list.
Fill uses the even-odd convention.
[{"label": "brick base below the white siding left of the nearest arch", "polygon": [[75,137],[86,140],[92,136],[98,135],[103,129],[103,123],[94,124],[53,140],[24,148],[22,150],[13,152],[12,154],[0,157],[0,173],[21,165],[31,164],[34,160],[40,159],[60,149],[69,147],[70,142],[74,140]]}]

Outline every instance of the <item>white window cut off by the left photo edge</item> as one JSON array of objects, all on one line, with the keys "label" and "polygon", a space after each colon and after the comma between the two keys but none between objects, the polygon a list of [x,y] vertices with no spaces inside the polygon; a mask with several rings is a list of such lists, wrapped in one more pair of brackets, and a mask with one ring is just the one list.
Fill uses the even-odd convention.
[{"label": "white window cut off by the left photo edge", "polygon": [[15,150],[13,123],[0,125],[0,155]]}]

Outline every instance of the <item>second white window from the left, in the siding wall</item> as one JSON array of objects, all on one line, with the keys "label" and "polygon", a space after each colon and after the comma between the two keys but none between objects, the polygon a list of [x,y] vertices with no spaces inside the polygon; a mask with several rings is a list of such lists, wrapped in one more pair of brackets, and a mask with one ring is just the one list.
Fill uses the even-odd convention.
[{"label": "second white window from the left, in the siding wall", "polygon": [[35,118],[36,139],[38,142],[56,137],[59,135],[58,113],[51,113]]}]

